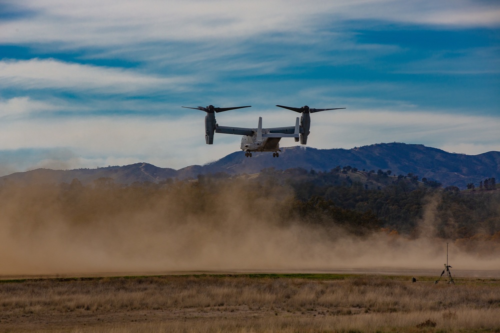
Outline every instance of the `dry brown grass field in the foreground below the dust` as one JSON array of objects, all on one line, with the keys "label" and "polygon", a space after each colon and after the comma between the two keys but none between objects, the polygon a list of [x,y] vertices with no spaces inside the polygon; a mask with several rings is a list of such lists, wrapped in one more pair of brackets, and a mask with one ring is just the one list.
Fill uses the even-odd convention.
[{"label": "dry brown grass field in the foreground below the dust", "polygon": [[0,332],[500,332],[500,280],[240,274],[0,281]]}]

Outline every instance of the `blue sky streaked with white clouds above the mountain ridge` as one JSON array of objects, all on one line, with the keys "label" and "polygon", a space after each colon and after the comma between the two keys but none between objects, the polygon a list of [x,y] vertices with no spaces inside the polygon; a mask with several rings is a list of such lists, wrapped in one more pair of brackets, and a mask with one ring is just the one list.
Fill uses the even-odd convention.
[{"label": "blue sky streaked with white clouds above the mountain ridge", "polygon": [[[498,1],[0,0],[0,175],[239,150],[225,126],[292,126],[308,146],[500,151]],[[291,139],[281,146],[293,146]]]}]

